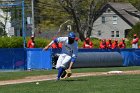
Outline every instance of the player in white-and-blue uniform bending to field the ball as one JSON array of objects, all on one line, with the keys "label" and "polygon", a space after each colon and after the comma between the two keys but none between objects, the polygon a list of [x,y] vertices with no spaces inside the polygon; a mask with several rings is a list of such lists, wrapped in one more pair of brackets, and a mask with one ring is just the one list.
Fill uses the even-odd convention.
[{"label": "player in white-and-blue uniform bending to field the ball", "polygon": [[56,69],[58,69],[57,80],[60,80],[60,77],[62,73],[65,71],[65,69],[67,68],[67,66],[68,66],[67,71],[69,73],[71,72],[71,67],[77,58],[78,44],[75,41],[75,37],[76,37],[75,33],[70,32],[68,34],[68,37],[58,37],[44,48],[44,50],[47,50],[54,42],[61,42],[63,45],[62,53],[60,54],[56,63]]}]

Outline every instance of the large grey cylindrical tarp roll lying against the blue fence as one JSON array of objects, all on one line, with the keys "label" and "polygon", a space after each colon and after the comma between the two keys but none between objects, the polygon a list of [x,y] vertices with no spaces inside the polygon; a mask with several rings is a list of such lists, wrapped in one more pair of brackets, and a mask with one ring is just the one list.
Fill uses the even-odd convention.
[{"label": "large grey cylindrical tarp roll lying against the blue fence", "polygon": [[79,52],[74,68],[122,66],[123,59],[118,52]]}]

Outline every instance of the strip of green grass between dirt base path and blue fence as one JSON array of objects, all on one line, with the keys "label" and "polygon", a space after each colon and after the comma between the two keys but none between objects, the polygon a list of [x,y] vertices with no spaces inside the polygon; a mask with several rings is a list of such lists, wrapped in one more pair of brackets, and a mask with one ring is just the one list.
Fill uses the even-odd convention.
[{"label": "strip of green grass between dirt base path and blue fence", "polygon": [[[107,72],[113,70],[140,70],[139,66],[132,67],[106,67],[106,68],[78,68],[72,69],[73,73],[81,72]],[[34,70],[34,71],[16,71],[16,72],[0,72],[0,81],[2,80],[12,80],[21,79],[27,76],[39,76],[39,75],[49,75],[56,74],[57,70]]]}]

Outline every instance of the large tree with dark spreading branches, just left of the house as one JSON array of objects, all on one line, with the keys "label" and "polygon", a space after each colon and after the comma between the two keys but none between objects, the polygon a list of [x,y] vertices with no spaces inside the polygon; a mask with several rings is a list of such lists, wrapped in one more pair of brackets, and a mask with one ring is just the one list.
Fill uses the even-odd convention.
[{"label": "large tree with dark spreading branches, just left of the house", "polygon": [[91,35],[93,23],[100,14],[99,9],[107,0],[59,0],[60,5],[71,16],[81,40]]}]

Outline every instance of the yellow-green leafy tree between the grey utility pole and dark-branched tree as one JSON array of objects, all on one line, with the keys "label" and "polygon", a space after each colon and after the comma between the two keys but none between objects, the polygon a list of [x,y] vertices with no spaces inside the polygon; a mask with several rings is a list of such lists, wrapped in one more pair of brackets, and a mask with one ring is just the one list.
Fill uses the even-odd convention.
[{"label": "yellow-green leafy tree between the grey utility pole and dark-branched tree", "polygon": [[58,27],[68,19],[69,15],[63,11],[58,0],[37,0],[35,1],[36,26],[43,29]]}]

